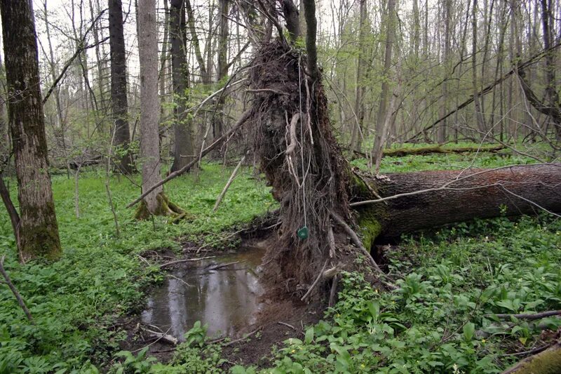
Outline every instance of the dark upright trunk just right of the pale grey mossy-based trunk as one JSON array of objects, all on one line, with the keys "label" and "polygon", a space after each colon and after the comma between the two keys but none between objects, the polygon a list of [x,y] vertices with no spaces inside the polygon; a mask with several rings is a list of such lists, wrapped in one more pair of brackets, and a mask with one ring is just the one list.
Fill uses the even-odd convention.
[{"label": "dark upright trunk just right of the pale grey mossy-based trunk", "polygon": [[174,159],[171,171],[178,171],[194,159],[192,121],[187,118],[189,67],[187,65],[185,7],[183,0],[171,0],[171,63],[174,101],[175,132]]}]

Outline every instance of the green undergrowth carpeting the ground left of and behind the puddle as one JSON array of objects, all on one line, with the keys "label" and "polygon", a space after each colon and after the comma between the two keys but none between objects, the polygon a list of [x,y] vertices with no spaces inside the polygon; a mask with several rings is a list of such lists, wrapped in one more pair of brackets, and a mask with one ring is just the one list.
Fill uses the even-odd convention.
[{"label": "green undergrowth carpeting the ground left of and behind the puddle", "polygon": [[[102,171],[81,173],[79,218],[74,212],[74,180],[53,177],[63,255],[52,264],[18,263],[11,225],[2,208],[0,256],[6,255],[6,270],[36,326],[27,321],[8,287],[0,284],[0,373],[95,373],[109,363],[125,338],[121,317],[142,310],[146,286],[161,279],[157,267],[144,268],[137,254],[160,248],[179,251],[184,240],[223,246],[219,239],[227,236],[224,230],[245,225],[276,206],[269,188],[246,169],[212,213],[230,174],[231,168],[206,164],[198,180],[186,175],[165,185],[171,201],[194,216],[175,225],[161,217],[133,220],[134,209],[126,205],[140,188],[122,176],[112,177],[119,236]],[[138,184],[140,176],[133,180]],[[10,182],[17,203],[15,180]]]}]

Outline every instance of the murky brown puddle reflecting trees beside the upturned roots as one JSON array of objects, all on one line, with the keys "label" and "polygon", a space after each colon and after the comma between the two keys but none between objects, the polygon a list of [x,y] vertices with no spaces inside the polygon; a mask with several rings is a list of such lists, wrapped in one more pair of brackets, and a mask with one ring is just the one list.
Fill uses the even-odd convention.
[{"label": "murky brown puddle reflecting trees beside the upturned roots", "polygon": [[[235,255],[170,272],[168,280],[151,293],[142,321],[180,340],[196,321],[208,323],[209,336],[236,335],[255,323],[262,292],[256,272],[263,255],[262,248],[241,248]],[[231,262],[237,263],[212,269]]]}]

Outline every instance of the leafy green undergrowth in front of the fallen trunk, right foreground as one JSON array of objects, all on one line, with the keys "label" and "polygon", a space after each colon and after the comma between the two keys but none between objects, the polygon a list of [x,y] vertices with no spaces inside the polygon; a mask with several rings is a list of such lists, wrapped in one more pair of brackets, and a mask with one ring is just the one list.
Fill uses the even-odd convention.
[{"label": "leafy green undergrowth in front of the fallen trunk, right foreground", "polygon": [[339,301],[303,338],[273,349],[272,367],[232,373],[501,373],[513,352],[547,344],[561,319],[495,314],[561,308],[561,221],[506,218],[407,236],[388,252],[398,289],[346,273]]}]

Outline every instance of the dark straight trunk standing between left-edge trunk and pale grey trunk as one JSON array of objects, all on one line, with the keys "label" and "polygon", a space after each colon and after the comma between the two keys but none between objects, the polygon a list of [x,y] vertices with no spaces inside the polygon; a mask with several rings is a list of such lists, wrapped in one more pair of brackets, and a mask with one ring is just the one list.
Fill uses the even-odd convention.
[{"label": "dark straight trunk standing between left-edge trunk and pale grey trunk", "polygon": [[133,157],[128,147],[127,67],[123,36],[123,7],[121,0],[109,0],[109,48],[111,50],[111,109],[115,122],[115,145],[124,152],[116,156],[116,164],[123,174],[134,171]]}]

